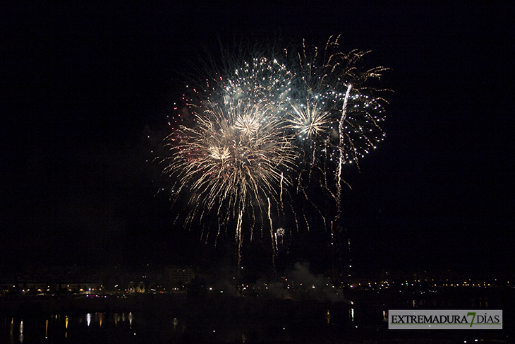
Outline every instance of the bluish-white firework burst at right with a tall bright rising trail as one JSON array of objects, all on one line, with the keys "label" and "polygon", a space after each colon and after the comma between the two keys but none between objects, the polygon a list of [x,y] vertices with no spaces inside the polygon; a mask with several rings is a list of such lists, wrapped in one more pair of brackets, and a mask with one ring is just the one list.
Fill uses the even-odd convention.
[{"label": "bluish-white firework burst at right with a tall bright rising trail", "polygon": [[322,187],[334,198],[340,215],[341,172],[344,165],[358,165],[358,159],[375,150],[384,138],[380,90],[367,81],[380,78],[384,67],[364,69],[366,52],[340,52],[339,36],[329,37],[325,49],[302,49],[293,54],[296,68],[287,107],[289,128],[299,148],[297,189]]}]

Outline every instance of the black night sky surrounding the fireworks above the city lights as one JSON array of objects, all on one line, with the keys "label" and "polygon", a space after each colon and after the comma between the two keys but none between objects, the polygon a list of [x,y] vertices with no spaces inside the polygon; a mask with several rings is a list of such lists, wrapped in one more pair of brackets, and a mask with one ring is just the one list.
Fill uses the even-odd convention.
[{"label": "black night sky surrounding the fireworks above the city lights", "polygon": [[[174,2],[0,11],[0,266],[234,261],[153,197],[145,160],[181,92],[174,80],[219,42],[323,45],[341,33],[344,50],[391,69],[382,85],[394,90],[387,140],[345,177],[356,266],[515,267],[509,1]],[[291,261],[328,255],[323,234],[294,240],[315,244]]]}]

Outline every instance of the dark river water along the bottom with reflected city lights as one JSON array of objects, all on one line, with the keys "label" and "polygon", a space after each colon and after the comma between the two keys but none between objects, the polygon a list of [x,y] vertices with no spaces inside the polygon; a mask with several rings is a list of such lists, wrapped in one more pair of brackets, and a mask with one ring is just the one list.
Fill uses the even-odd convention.
[{"label": "dark river water along the bottom with reflected city lights", "polygon": [[392,331],[387,310],[406,304],[371,293],[353,298],[352,304],[186,294],[2,298],[0,343],[514,343],[510,300],[509,308],[495,308],[503,309],[503,330]]}]

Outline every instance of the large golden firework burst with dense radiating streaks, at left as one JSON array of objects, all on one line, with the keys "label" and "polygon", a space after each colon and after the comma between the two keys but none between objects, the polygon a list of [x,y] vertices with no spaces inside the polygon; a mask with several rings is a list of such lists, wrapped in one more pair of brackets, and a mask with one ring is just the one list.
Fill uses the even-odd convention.
[{"label": "large golden firework burst with dense radiating streaks, at left", "polygon": [[[205,107],[194,113],[193,128],[181,126],[169,136],[172,155],[164,173],[178,181],[178,194],[191,194],[188,221],[212,213],[220,228],[238,219],[239,250],[243,215],[254,222],[270,213],[270,200],[279,204],[279,189],[291,184],[284,172],[291,170],[296,155],[291,140],[279,131],[283,120],[265,102],[238,99]],[[263,199],[269,203],[266,211]]]}]

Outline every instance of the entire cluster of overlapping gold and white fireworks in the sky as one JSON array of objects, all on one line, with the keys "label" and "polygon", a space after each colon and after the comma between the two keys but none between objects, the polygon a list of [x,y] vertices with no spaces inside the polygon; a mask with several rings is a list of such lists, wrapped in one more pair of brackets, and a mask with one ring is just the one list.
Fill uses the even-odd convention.
[{"label": "entire cluster of overlapping gold and white fireworks in the sky", "polygon": [[181,110],[193,121],[166,138],[163,171],[174,180],[173,194],[188,198],[186,226],[198,219],[206,240],[213,225],[216,238],[236,227],[238,263],[243,239],[252,240],[255,227],[261,236],[269,232],[273,259],[285,235],[274,220],[293,213],[298,228],[292,200],[309,198],[310,187],[334,198],[338,218],[343,166],[384,138],[385,101],[365,87],[384,68],[360,69],[365,53],[343,54],[338,40],[329,38],[320,52],[303,45],[298,52],[231,61],[184,95]]}]

